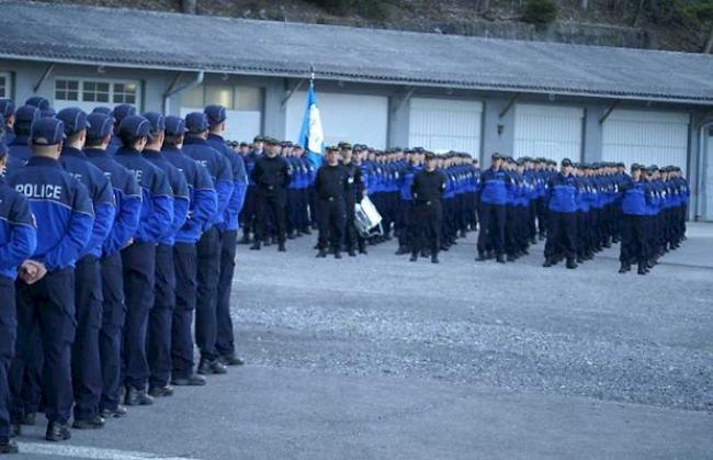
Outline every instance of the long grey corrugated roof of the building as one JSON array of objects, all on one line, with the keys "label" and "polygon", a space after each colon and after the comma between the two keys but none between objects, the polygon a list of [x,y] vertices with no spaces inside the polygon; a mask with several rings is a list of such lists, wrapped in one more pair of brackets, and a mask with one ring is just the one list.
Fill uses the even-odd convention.
[{"label": "long grey corrugated roof of the building", "polygon": [[713,104],[713,56],[0,0],[0,56]]}]

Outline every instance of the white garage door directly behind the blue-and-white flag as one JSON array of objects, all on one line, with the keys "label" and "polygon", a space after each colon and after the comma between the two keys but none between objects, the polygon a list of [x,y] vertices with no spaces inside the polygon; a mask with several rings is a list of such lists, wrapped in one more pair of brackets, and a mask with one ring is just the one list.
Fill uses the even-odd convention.
[{"label": "white garage door directly behind the blue-and-white flag", "polygon": [[[344,141],[380,149],[386,147],[388,98],[317,92],[317,102],[326,145]],[[292,142],[298,142],[306,104],[305,91],[295,92],[287,102],[286,137]]]}]

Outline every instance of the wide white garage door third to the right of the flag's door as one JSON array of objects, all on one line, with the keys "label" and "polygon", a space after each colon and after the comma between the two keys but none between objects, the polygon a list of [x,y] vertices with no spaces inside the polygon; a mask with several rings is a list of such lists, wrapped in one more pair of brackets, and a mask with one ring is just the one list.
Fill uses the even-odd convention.
[{"label": "wide white garage door third to the right of the flag's door", "polygon": [[686,113],[614,110],[602,127],[602,159],[686,170],[689,122]]}]

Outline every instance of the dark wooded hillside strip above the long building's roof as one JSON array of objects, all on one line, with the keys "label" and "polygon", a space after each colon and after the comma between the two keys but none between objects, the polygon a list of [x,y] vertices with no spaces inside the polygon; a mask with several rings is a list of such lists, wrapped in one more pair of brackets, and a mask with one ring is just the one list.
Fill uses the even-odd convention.
[{"label": "dark wooded hillside strip above the long building's roof", "polygon": [[[706,13],[713,16],[712,0],[39,1],[691,53],[705,48]],[[545,4],[543,16],[543,3],[554,11]],[[691,14],[686,9],[691,4],[702,4],[703,13]]]}]

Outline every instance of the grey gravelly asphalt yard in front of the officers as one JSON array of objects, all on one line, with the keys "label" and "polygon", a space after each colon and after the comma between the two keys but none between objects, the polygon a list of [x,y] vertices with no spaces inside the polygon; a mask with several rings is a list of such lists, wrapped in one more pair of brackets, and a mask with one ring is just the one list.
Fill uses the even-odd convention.
[{"label": "grey gravelly asphalt yard in front of the officers", "polygon": [[238,248],[248,362],[16,459],[711,459],[713,225],[652,273]]}]

